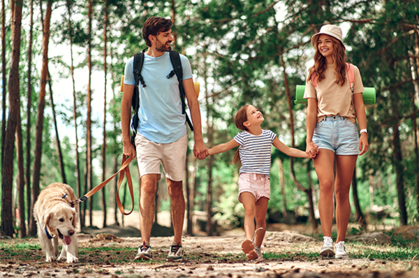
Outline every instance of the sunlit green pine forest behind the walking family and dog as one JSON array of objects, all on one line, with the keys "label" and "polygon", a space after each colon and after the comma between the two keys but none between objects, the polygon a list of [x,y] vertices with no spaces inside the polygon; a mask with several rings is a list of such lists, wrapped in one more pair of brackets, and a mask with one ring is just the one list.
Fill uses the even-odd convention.
[{"label": "sunlit green pine forest behind the walking family and dog", "polygon": [[[310,38],[323,24],[344,31],[348,61],[365,87],[369,150],[359,157],[351,185],[351,221],[417,225],[419,217],[419,2],[395,0],[1,0],[1,230],[36,235],[32,216],[39,192],[64,182],[83,196],[116,173],[122,161],[120,82],[133,54],[146,48],[142,25],[170,18],[172,49],[191,61],[200,82],[206,146],[233,138],[235,112],[252,104],[263,129],[305,150],[307,105],[295,104],[314,64]],[[187,231],[193,212],[206,215],[205,231],[242,225],[237,200],[240,166],[234,150],[199,161],[193,134],[184,173]],[[131,163],[138,212],[137,163]],[[299,219],[319,225],[318,180],[309,159],[272,149],[268,221]],[[117,180],[81,204],[81,226],[92,212],[112,211]],[[124,182],[119,189],[131,208]],[[156,211],[170,207],[159,182]],[[114,210],[107,210],[113,208]],[[104,217],[103,226],[107,223]],[[288,220],[287,220],[288,219]]]}]

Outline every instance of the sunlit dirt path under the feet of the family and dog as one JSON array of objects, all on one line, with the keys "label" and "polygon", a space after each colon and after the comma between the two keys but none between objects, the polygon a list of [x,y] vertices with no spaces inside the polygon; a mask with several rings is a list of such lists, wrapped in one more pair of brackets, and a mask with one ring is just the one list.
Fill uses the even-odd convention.
[{"label": "sunlit dirt path under the feet of the family and dog", "polygon": [[[166,263],[172,237],[153,237],[154,261],[132,261],[139,237],[80,235],[79,263],[45,263],[38,240],[3,240],[0,245],[0,277],[419,277],[417,258],[409,261],[380,258],[322,259],[316,252],[321,242],[304,235],[267,232],[262,249],[265,261],[251,263],[241,251],[242,235],[223,237],[185,236],[184,262]],[[16,247],[16,250],[12,250]],[[18,247],[26,244],[22,250]],[[351,253],[395,247],[348,244]]]}]

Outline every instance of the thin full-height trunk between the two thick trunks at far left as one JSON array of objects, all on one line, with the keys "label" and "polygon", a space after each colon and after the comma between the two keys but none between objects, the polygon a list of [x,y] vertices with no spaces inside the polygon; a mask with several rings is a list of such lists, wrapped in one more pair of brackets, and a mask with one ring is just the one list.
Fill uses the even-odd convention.
[{"label": "thin full-height trunk between the two thick trunks at far left", "polygon": [[28,103],[27,103],[27,135],[26,135],[26,188],[27,188],[27,216],[28,224],[31,216],[31,108],[32,108],[32,41],[34,30],[34,0],[31,0],[29,23],[29,49],[28,49]]}]

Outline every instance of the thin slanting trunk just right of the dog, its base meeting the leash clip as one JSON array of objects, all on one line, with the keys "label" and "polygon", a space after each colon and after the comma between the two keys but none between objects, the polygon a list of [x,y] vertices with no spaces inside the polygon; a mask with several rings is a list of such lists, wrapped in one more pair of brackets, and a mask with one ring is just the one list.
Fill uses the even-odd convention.
[{"label": "thin slanting trunk just right of the dog, its base meeting the leash clip", "polygon": [[[68,11],[68,33],[70,39],[70,57],[71,57],[71,81],[73,84],[73,121],[74,121],[74,133],[75,133],[75,169],[76,169],[76,187],[77,187],[77,196],[80,198],[82,196],[82,184],[80,182],[80,157],[78,152],[78,124],[77,124],[77,95],[75,92],[75,80],[74,80],[74,59],[73,59],[73,28],[71,26],[71,2],[67,1],[67,11]],[[84,210],[80,207],[80,226],[84,227]]]}]

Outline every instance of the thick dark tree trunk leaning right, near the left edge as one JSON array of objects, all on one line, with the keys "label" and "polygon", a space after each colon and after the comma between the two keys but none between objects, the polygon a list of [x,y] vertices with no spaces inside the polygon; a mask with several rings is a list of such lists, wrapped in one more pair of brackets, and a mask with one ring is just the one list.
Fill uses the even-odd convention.
[{"label": "thick dark tree trunk leaning right, near the left edge", "polygon": [[12,189],[13,189],[13,154],[15,152],[15,131],[17,113],[20,111],[19,91],[19,60],[20,60],[20,31],[22,27],[22,0],[15,0],[13,17],[12,59],[8,83],[9,115],[4,140],[3,164],[1,172],[1,230],[13,236]]}]

